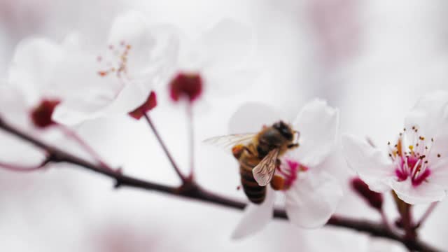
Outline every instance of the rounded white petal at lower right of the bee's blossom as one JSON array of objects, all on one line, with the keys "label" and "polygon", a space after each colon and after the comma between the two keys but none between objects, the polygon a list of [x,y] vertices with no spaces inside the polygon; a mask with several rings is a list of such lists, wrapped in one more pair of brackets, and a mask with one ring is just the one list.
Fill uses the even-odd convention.
[{"label": "rounded white petal at lower right of the bee's blossom", "polygon": [[302,175],[306,177],[286,191],[286,214],[301,228],[318,228],[335,213],[342,188],[325,172]]}]

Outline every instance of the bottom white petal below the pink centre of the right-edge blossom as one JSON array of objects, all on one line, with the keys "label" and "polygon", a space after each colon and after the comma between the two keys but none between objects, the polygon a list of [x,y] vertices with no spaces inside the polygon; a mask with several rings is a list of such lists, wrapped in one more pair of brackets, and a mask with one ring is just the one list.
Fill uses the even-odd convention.
[{"label": "bottom white petal below the pink centre of the right-edge blossom", "polygon": [[412,186],[411,179],[401,182],[391,181],[391,187],[398,197],[407,204],[426,204],[443,200],[446,196],[446,192],[441,186],[428,182]]}]

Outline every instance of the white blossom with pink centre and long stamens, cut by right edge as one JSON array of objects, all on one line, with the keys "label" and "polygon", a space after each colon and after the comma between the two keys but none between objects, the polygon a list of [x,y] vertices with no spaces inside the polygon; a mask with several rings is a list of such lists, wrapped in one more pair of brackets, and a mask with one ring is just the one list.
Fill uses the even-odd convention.
[{"label": "white blossom with pink centre and long stamens, cut by right edge", "polygon": [[448,189],[448,92],[423,96],[387,151],[346,134],[344,155],[371,190],[394,190],[408,204],[442,200]]}]

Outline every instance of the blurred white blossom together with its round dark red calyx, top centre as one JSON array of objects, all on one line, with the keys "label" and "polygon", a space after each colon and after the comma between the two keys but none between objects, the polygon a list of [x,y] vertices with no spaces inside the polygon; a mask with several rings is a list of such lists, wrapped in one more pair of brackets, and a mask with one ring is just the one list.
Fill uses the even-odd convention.
[{"label": "blurred white blossom together with its round dark red calyx, top centre", "polygon": [[170,93],[175,102],[181,94],[191,102],[202,90],[219,96],[253,83],[255,71],[247,61],[255,39],[245,25],[223,19],[198,38],[182,38],[179,62],[171,75]]}]

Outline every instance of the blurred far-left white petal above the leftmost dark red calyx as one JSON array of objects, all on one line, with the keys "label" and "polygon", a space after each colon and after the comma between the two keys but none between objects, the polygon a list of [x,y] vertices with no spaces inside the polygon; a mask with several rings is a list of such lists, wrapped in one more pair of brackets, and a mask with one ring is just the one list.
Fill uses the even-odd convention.
[{"label": "blurred far-left white petal above the leftmost dark red calyx", "polygon": [[62,60],[62,47],[46,38],[27,38],[15,49],[8,81],[18,85],[30,104],[49,89],[55,67]]}]

